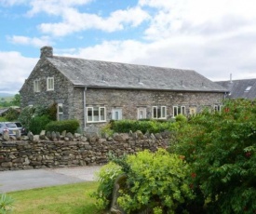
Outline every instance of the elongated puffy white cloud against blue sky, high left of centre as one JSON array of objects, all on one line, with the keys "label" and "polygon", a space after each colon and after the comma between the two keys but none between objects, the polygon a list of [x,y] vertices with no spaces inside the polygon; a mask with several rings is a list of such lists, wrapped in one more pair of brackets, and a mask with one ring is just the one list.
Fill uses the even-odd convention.
[{"label": "elongated puffy white cloud against blue sky, high left of centre", "polygon": [[140,7],[116,10],[108,18],[103,19],[96,14],[80,13],[74,8],[66,8],[61,11],[62,21],[59,23],[42,23],[38,28],[43,33],[55,36],[98,29],[105,32],[115,32],[125,28],[126,25],[137,27],[149,15]]}]

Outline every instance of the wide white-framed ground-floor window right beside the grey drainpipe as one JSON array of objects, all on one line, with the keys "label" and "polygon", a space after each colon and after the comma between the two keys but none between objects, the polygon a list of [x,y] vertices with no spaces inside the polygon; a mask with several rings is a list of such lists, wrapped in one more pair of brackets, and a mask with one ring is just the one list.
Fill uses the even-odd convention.
[{"label": "wide white-framed ground-floor window right beside the grey drainpipe", "polygon": [[105,107],[87,107],[87,122],[97,123],[106,121]]}]

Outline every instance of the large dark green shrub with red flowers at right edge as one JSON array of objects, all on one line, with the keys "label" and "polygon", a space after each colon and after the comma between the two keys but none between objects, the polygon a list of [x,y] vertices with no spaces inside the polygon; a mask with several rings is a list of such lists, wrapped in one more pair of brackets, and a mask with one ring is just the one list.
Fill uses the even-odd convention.
[{"label": "large dark green shrub with red flowers at right edge", "polygon": [[178,140],[171,151],[190,164],[191,186],[197,199],[203,195],[203,203],[209,202],[209,213],[255,213],[254,101],[225,100],[221,113],[193,117]]}]

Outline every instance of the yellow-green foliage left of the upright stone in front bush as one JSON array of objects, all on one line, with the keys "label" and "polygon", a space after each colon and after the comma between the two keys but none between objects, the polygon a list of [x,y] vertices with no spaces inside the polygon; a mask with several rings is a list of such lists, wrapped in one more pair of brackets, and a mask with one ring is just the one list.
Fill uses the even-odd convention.
[{"label": "yellow-green foliage left of the upright stone in front bush", "polygon": [[114,162],[109,162],[101,167],[101,170],[96,175],[100,182],[96,192],[91,194],[97,199],[96,205],[99,209],[107,209],[111,205],[115,179],[123,173],[121,167]]}]

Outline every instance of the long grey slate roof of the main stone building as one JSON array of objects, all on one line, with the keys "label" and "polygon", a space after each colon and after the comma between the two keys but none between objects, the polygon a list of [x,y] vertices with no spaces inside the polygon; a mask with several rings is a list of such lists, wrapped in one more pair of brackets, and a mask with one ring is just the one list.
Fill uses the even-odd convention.
[{"label": "long grey slate roof of the main stone building", "polygon": [[47,60],[76,87],[226,91],[192,70],[58,56],[47,57]]}]

